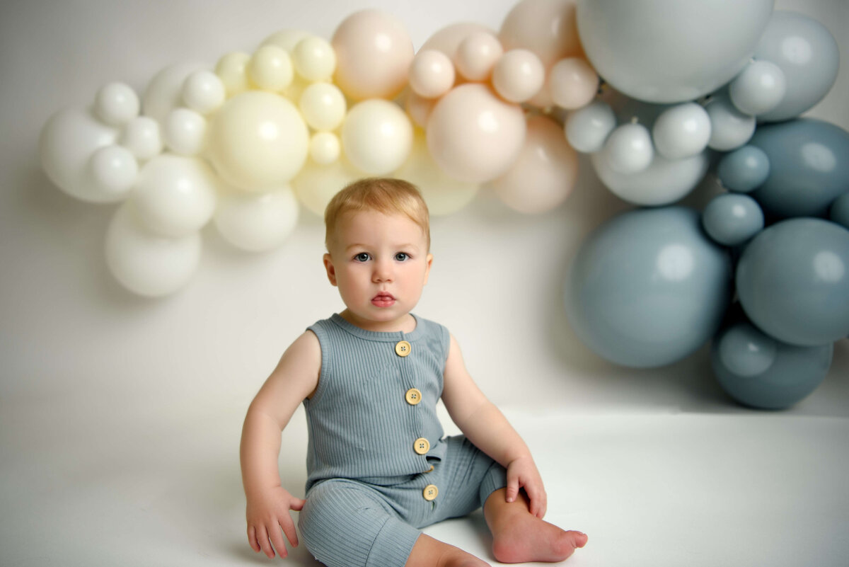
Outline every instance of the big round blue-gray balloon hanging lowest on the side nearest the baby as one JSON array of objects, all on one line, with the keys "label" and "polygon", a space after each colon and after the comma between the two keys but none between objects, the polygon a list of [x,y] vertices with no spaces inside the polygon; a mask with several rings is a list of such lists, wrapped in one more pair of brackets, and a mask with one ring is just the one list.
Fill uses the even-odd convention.
[{"label": "big round blue-gray balloon hanging lowest on the side nearest the baby", "polygon": [[627,211],[582,244],[566,282],[566,312],[599,356],[633,368],[676,362],[716,333],[730,300],[728,252],[697,211]]}]

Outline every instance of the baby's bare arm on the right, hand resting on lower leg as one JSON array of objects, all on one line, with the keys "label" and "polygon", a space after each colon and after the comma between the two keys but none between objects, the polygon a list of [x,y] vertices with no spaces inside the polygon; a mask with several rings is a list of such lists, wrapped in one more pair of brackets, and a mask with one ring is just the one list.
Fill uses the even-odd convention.
[{"label": "baby's bare arm on the right, hand resting on lower leg", "polygon": [[531,514],[542,518],[547,506],[545,487],[531,451],[469,376],[453,335],[445,364],[442,401],[466,438],[507,469],[507,501],[513,502],[519,489],[524,488],[531,501]]}]

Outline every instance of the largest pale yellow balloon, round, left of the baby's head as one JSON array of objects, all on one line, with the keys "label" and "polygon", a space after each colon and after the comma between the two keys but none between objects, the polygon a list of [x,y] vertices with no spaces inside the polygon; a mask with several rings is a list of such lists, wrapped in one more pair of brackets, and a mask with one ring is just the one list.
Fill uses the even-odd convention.
[{"label": "largest pale yellow balloon, round, left of the baby's head", "polygon": [[309,131],[286,98],[248,91],[230,98],[212,118],[212,165],[226,182],[263,191],[288,182],[306,160]]}]

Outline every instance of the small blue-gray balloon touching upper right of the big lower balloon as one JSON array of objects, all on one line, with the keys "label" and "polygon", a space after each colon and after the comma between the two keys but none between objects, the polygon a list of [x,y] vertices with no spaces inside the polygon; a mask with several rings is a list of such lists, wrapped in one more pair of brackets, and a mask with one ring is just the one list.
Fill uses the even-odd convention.
[{"label": "small blue-gray balloon touching upper right of the big lower balloon", "polygon": [[763,229],[763,212],[749,195],[717,195],[701,215],[702,226],[711,239],[724,246],[737,246]]}]

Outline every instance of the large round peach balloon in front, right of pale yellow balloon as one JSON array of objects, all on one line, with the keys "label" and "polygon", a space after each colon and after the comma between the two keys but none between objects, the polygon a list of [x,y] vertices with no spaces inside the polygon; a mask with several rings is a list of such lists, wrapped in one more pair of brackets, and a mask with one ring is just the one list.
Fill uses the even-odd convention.
[{"label": "large round peach balloon in front, right of pale yellow balloon", "polygon": [[505,103],[486,85],[467,83],[436,104],[428,121],[427,145],[447,175],[481,183],[509,169],[522,149],[525,129],[519,105]]}]

